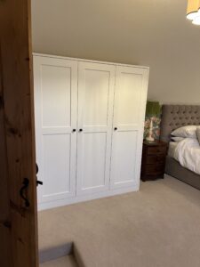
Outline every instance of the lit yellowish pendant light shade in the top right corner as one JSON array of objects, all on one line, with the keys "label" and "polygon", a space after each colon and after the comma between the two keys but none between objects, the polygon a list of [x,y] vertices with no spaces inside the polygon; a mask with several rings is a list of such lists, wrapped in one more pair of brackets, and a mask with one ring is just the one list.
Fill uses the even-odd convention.
[{"label": "lit yellowish pendant light shade in the top right corner", "polygon": [[200,0],[188,0],[187,19],[200,25]]}]

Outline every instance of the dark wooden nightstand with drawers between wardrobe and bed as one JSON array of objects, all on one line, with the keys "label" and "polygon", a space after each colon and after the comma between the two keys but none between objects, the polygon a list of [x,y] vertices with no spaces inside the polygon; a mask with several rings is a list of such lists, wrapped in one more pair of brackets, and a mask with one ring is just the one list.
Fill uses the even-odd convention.
[{"label": "dark wooden nightstand with drawers between wardrobe and bed", "polygon": [[166,142],[143,142],[141,160],[141,180],[143,182],[164,178],[167,149]]}]

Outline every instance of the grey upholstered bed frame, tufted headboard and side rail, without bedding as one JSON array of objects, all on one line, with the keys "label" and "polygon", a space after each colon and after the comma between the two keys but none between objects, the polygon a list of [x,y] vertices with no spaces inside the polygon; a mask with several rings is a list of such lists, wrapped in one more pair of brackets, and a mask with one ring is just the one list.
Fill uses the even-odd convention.
[{"label": "grey upholstered bed frame, tufted headboard and side rail, without bedding", "polygon": [[[200,105],[163,105],[161,140],[170,142],[173,130],[185,125],[200,125]],[[200,175],[180,166],[174,158],[166,157],[165,173],[200,190]]]}]

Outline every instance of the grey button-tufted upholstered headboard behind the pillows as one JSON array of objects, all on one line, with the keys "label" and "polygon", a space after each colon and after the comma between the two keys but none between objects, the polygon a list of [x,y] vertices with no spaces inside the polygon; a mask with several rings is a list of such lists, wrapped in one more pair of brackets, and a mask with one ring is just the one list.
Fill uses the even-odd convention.
[{"label": "grey button-tufted upholstered headboard behind the pillows", "polygon": [[173,130],[185,125],[200,125],[200,106],[163,105],[161,140],[170,141]]}]

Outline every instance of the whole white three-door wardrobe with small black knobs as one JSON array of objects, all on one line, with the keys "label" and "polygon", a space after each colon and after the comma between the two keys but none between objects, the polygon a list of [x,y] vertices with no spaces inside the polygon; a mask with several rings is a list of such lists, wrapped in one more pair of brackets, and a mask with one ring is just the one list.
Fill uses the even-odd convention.
[{"label": "whole white three-door wardrobe with small black knobs", "polygon": [[148,68],[34,54],[38,208],[140,186]]}]

